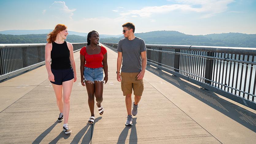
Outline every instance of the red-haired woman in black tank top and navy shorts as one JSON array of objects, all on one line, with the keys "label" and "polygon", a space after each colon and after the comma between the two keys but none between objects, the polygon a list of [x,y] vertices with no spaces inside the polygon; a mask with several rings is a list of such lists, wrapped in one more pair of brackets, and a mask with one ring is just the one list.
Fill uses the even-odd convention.
[{"label": "red-haired woman in black tank top and navy shorts", "polygon": [[63,131],[65,134],[71,133],[67,121],[70,109],[71,89],[77,79],[73,46],[71,43],[64,41],[67,39],[67,35],[67,27],[58,24],[48,34],[48,43],[45,46],[45,66],[60,111],[58,122],[62,122],[64,119]]}]

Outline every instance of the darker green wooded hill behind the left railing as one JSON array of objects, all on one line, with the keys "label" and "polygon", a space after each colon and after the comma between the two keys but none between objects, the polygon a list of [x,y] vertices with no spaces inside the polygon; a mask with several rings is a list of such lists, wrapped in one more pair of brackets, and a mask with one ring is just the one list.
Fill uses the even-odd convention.
[{"label": "darker green wooded hill behind the left railing", "polygon": [[[0,34],[0,44],[39,44],[47,43],[47,34],[30,35],[3,35]],[[68,35],[67,40],[70,43],[85,43],[85,36]]]}]

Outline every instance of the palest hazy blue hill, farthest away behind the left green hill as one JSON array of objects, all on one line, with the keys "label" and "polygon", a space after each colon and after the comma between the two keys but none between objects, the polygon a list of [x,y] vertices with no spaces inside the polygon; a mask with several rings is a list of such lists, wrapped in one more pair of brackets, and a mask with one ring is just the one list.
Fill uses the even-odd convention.
[{"label": "palest hazy blue hill, farthest away behind the left green hill", "polygon": [[[52,32],[53,29],[37,29],[37,30],[6,30],[6,31],[0,31],[0,34],[5,35],[29,35],[29,34],[45,34]],[[68,31],[70,35],[78,35],[78,36],[86,36],[88,33],[84,32],[74,32],[74,31]],[[102,35],[100,34],[100,38],[107,38],[107,37],[120,37],[122,35]]]}]

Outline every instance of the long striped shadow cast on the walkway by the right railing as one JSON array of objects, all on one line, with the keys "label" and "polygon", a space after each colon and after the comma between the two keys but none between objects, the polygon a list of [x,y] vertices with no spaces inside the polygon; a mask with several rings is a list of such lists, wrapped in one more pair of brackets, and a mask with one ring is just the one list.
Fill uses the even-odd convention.
[{"label": "long striped shadow cast on the walkway by the right railing", "polygon": [[218,97],[215,93],[211,91],[205,91],[194,85],[191,85],[181,78],[162,72],[162,70],[156,69],[150,65],[146,68],[149,72],[157,75],[158,77],[168,81],[172,85],[178,87],[182,91],[188,93],[189,95],[195,97],[196,99],[204,102],[210,107],[216,109],[217,111],[223,113],[229,118],[235,120],[236,122],[242,124],[248,129],[256,132],[256,114],[250,112],[238,105],[235,105],[227,100]]}]

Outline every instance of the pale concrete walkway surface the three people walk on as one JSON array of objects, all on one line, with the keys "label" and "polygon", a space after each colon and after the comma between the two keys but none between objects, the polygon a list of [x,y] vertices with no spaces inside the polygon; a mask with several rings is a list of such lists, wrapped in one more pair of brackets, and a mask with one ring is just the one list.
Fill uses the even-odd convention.
[{"label": "pale concrete walkway surface the three people walk on", "polygon": [[[0,83],[0,143],[246,143],[256,142],[256,111],[150,65],[133,126],[116,80],[117,53],[107,48],[109,81],[104,85],[104,114],[90,111],[80,83],[79,51],[74,54],[78,81],[71,93],[68,124],[62,131],[59,110],[45,66]],[[95,104],[96,105],[96,104]]]}]

